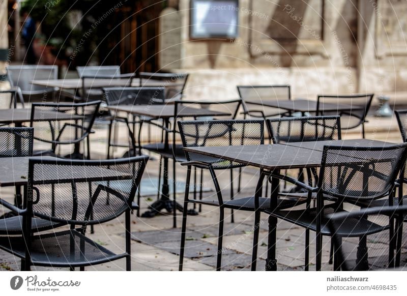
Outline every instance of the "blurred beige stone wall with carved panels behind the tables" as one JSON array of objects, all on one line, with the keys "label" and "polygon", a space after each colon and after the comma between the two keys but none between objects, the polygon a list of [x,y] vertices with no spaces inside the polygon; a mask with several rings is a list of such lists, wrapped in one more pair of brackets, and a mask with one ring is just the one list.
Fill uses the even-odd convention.
[{"label": "blurred beige stone wall with carved panels behind the tables", "polygon": [[285,83],[294,97],[407,99],[404,1],[240,0],[235,40],[190,40],[190,1],[178,8],[181,68],[172,70],[191,73],[191,99],[233,98],[237,84]]}]

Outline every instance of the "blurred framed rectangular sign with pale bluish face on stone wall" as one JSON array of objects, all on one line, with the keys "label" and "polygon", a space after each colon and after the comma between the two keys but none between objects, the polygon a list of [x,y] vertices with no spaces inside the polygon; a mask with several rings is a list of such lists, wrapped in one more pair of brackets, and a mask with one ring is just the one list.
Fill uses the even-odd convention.
[{"label": "blurred framed rectangular sign with pale bluish face on stone wall", "polygon": [[238,37],[238,3],[238,0],[191,0],[190,37]]}]

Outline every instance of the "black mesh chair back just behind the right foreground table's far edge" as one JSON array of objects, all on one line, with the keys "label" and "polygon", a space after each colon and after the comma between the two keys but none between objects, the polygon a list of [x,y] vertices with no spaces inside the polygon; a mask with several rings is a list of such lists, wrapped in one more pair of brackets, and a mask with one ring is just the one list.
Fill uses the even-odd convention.
[{"label": "black mesh chair back just behind the right foreground table's far edge", "polygon": [[274,144],[340,139],[339,116],[282,117],[268,119]]}]

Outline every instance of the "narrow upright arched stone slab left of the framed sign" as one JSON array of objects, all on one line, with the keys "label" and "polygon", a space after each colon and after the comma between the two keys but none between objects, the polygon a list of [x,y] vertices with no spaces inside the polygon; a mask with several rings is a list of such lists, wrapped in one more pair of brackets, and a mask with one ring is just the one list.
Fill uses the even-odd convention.
[{"label": "narrow upright arched stone slab left of the framed sign", "polygon": [[181,68],[181,18],[175,8],[160,14],[159,44],[160,70]]}]

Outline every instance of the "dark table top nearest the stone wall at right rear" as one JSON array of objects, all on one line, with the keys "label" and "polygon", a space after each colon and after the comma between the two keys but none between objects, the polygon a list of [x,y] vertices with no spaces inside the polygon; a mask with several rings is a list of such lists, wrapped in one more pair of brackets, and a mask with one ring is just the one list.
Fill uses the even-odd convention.
[{"label": "dark table top nearest the stone wall at right rear", "polygon": [[[267,107],[280,108],[287,111],[293,112],[315,112],[316,111],[316,101],[310,101],[305,99],[297,100],[245,100],[248,104],[263,105]],[[362,107],[357,105],[348,104],[333,104],[333,103],[319,103],[319,109],[324,111],[346,111],[346,110],[357,110]]]}]

